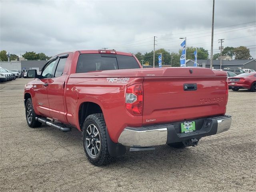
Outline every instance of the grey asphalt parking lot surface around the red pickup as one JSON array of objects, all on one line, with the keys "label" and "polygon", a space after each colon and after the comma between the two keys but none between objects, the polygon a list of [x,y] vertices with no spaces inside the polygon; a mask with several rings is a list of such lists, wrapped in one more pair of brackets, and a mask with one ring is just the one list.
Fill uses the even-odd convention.
[{"label": "grey asphalt parking lot surface around the red pickup", "polygon": [[0,191],[255,191],[256,93],[229,91],[228,132],[197,147],[128,152],[108,166],[90,164],[78,130],[30,128],[23,88],[0,84]]}]

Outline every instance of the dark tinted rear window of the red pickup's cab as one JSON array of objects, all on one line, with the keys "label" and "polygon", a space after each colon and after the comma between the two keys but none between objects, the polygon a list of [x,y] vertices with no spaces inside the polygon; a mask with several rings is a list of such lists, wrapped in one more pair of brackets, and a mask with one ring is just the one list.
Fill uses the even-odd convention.
[{"label": "dark tinted rear window of the red pickup's cab", "polygon": [[118,54],[80,54],[76,73],[140,68],[133,56]]}]

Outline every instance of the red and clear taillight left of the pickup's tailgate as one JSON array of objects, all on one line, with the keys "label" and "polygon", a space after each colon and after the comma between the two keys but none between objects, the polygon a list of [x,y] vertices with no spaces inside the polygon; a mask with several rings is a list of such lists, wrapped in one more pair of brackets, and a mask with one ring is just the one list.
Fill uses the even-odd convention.
[{"label": "red and clear taillight left of the pickup's tailgate", "polygon": [[142,83],[127,87],[125,94],[126,110],[132,115],[142,115],[143,112],[143,86]]}]

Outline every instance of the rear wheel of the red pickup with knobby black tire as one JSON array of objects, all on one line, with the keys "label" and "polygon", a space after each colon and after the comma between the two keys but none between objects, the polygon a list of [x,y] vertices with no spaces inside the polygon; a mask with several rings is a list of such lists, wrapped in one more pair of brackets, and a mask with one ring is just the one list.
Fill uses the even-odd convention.
[{"label": "rear wheel of the red pickup with knobby black tire", "polygon": [[106,123],[102,113],[91,114],[84,120],[82,142],[92,164],[102,166],[114,160],[108,153]]}]

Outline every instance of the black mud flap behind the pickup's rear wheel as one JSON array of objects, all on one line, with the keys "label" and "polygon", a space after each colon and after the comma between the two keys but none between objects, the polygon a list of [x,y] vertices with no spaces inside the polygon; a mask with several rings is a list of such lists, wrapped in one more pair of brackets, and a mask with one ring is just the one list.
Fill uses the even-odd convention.
[{"label": "black mud flap behind the pickup's rear wheel", "polygon": [[108,153],[112,157],[122,156],[126,153],[126,146],[123,146],[119,143],[114,143],[109,134],[108,129],[106,128],[106,136],[107,136],[107,142],[108,142]]}]

